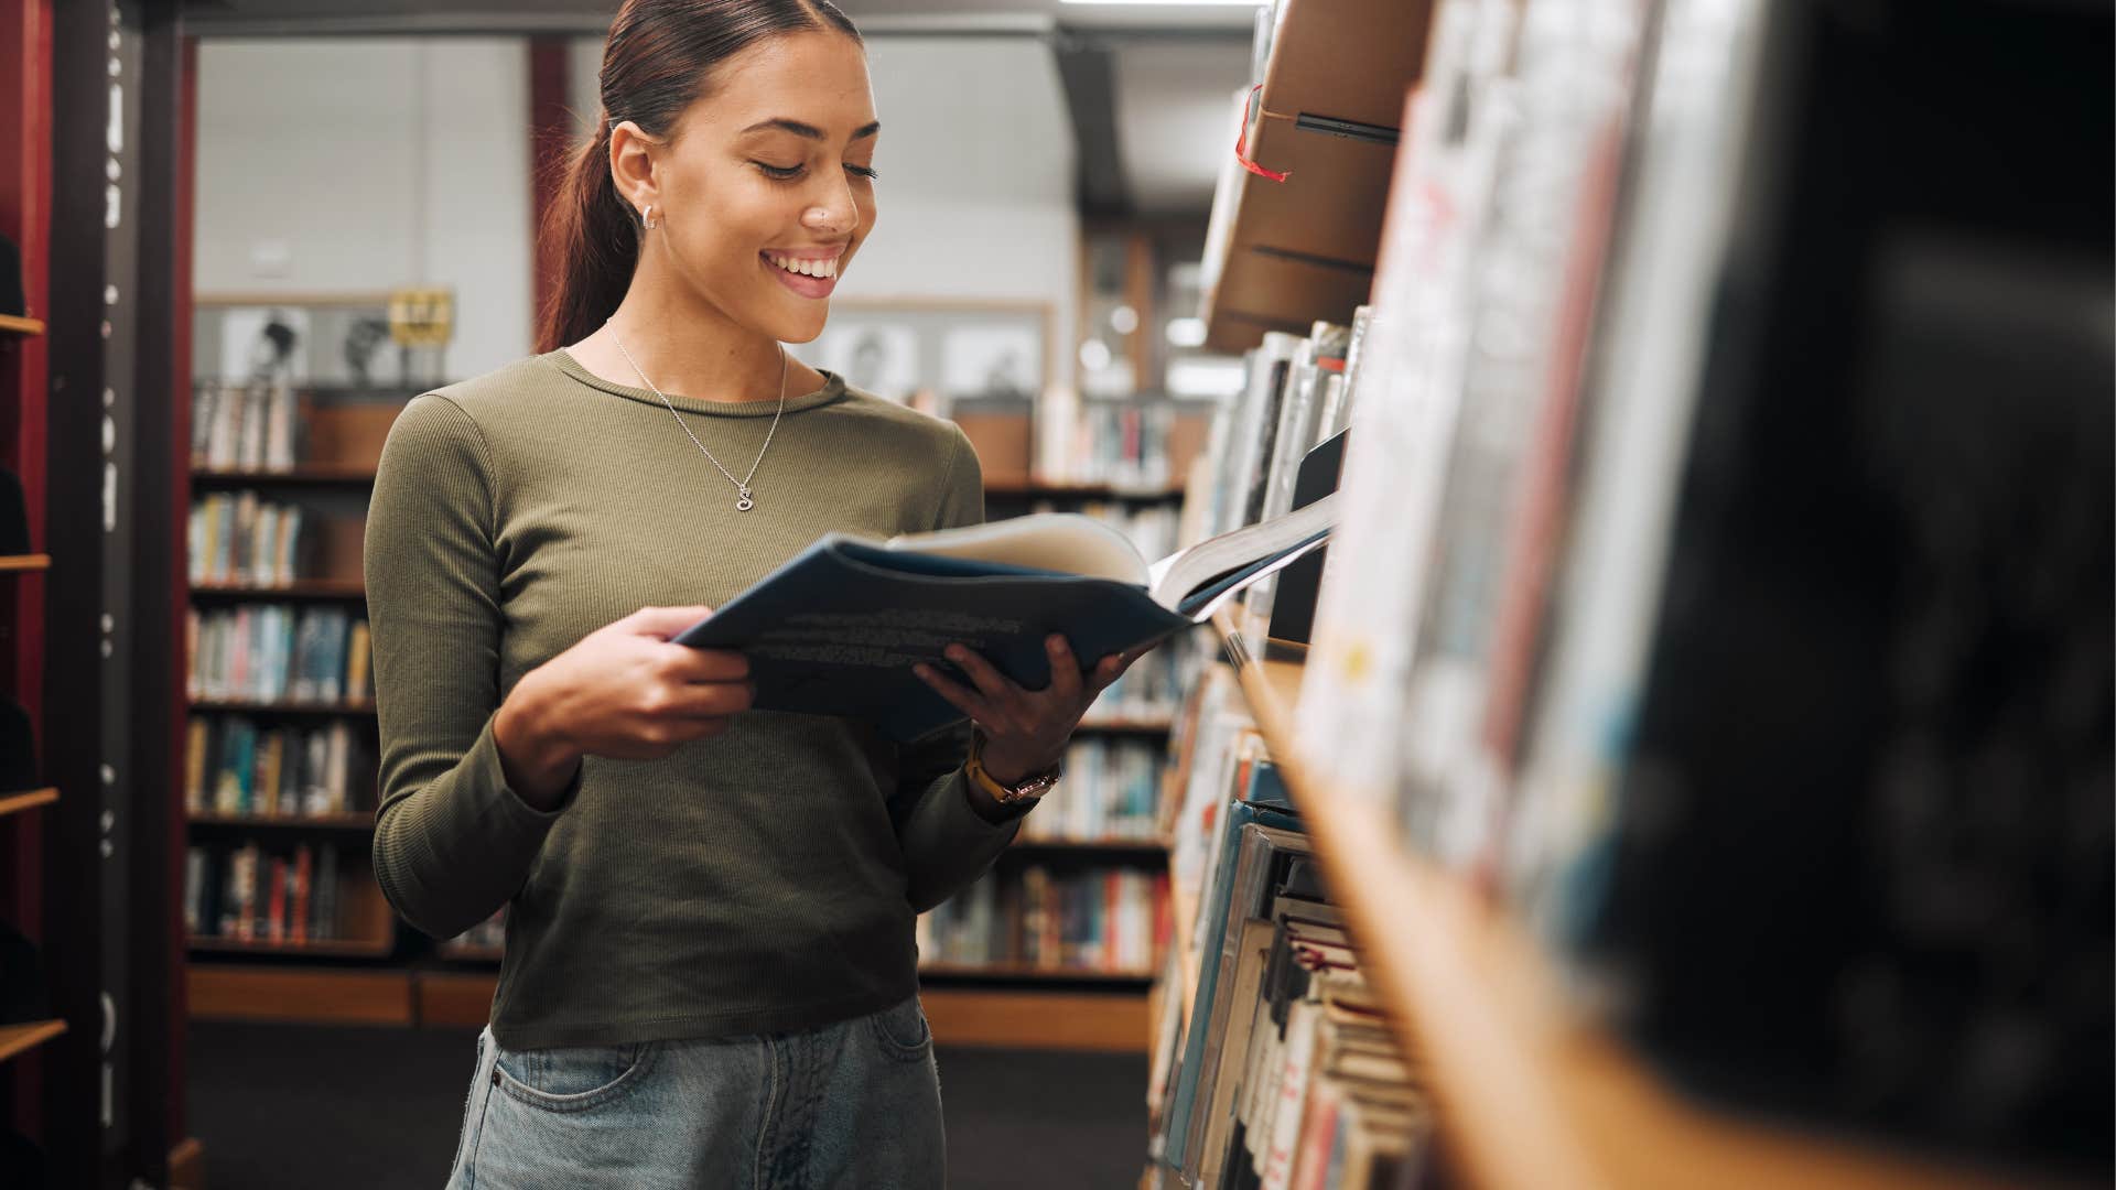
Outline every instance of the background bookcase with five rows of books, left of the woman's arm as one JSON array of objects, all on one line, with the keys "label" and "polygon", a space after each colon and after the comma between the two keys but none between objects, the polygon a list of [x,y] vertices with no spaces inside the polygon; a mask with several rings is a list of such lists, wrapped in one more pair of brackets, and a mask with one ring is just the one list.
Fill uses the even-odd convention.
[{"label": "background bookcase with five rows of books, left of the woman's arm", "polygon": [[[394,387],[193,383],[184,476],[190,548],[203,553],[184,601],[201,652],[193,692],[203,697],[184,705],[186,783],[199,786],[184,813],[186,910],[218,915],[186,938],[199,1014],[408,1023],[396,1008],[408,1006],[408,991],[377,982],[402,982],[419,951],[406,951],[370,870],[377,707],[372,697],[336,697],[364,671],[360,542],[381,438],[406,398]],[[243,654],[284,671],[243,678],[231,661]],[[237,896],[233,885],[252,872]],[[231,930],[231,900],[252,915],[248,927]],[[296,942],[303,910],[307,934],[328,934]],[[343,985],[298,1002],[313,1014],[262,1002],[288,987],[288,963],[298,961],[332,963],[303,972],[303,987]]]}]

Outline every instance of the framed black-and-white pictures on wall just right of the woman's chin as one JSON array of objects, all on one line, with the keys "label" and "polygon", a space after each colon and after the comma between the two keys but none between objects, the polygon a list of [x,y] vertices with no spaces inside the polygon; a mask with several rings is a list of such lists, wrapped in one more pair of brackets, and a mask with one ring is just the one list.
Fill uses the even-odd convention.
[{"label": "framed black-and-white pictures on wall just right of the woman's chin", "polygon": [[956,398],[1033,402],[1052,383],[1052,307],[1007,301],[840,301],[808,366],[946,415]]}]

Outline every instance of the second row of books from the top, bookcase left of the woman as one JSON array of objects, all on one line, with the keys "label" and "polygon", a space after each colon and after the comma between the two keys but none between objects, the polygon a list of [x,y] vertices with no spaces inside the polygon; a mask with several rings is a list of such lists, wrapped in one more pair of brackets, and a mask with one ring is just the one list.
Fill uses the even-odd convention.
[{"label": "second row of books from the top, bookcase left of the woman", "polygon": [[286,587],[307,574],[360,572],[360,517],[332,517],[256,491],[212,491],[190,504],[190,582]]}]

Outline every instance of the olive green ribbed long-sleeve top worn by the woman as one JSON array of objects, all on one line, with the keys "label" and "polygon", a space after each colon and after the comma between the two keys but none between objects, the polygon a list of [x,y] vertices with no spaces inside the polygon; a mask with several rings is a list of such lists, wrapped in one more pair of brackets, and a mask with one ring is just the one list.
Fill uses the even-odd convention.
[{"label": "olive green ribbed long-sleeve top worn by the woman", "polygon": [[[730,470],[779,409],[671,402]],[[508,788],[493,714],[586,633],[726,603],[825,531],[984,517],[961,430],[840,377],[785,402],[751,489],[736,510],[660,398],[565,351],[419,396],[389,432],[366,529],[375,877],[436,938],[508,906],[491,1027],[510,1048],[880,1010],[916,989],[916,913],[1014,836],[971,809],[965,731],[895,745],[823,716],[745,711],[662,760],[588,756],[548,813]]]}]

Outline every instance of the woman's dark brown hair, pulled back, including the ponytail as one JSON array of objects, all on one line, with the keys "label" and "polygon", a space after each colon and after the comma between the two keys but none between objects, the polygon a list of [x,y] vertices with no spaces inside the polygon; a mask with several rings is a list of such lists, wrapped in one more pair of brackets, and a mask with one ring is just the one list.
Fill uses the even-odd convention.
[{"label": "woman's dark brown hair, pulled back, including the ponytail", "polygon": [[859,30],[829,0],[624,0],[603,44],[603,116],[595,140],[565,165],[544,218],[544,248],[559,286],[537,311],[537,351],[578,343],[624,301],[639,263],[639,214],[609,178],[609,127],[637,123],[667,138],[705,93],[715,66],[781,34]]}]

